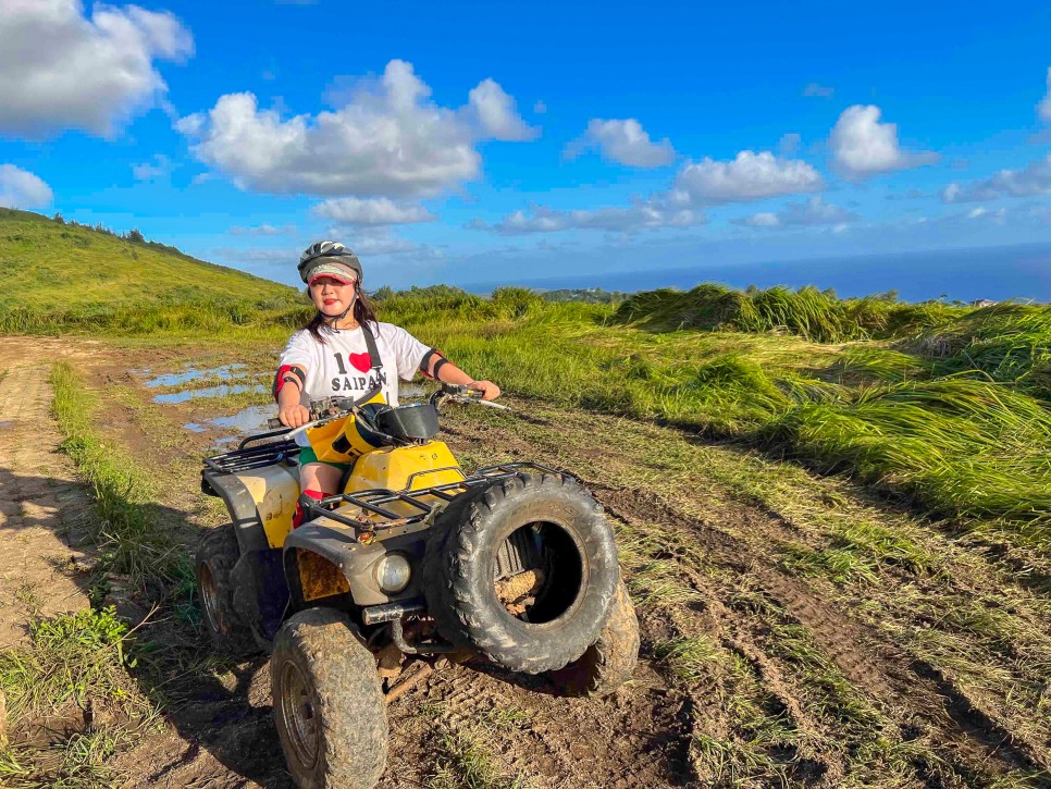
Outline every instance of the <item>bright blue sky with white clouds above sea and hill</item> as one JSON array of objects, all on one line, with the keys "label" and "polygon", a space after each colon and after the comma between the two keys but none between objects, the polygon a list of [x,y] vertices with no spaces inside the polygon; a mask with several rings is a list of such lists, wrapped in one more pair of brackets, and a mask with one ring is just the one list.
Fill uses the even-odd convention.
[{"label": "bright blue sky with white clouds above sea and hill", "polygon": [[1049,33],[1047,3],[0,0],[0,205],[289,284],[339,238],[373,287],[1044,243]]}]

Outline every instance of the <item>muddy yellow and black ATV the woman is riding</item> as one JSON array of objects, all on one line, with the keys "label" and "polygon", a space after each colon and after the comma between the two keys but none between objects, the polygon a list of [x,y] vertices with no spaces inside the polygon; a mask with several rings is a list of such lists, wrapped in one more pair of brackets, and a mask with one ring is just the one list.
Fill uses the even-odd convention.
[{"label": "muddy yellow and black ATV the woman is riding", "polygon": [[[302,428],[205,460],[201,488],[232,521],[197,552],[206,628],[226,653],[270,653],[300,787],[373,787],[386,705],[450,663],[543,675],[566,695],[605,695],[631,676],[638,620],[613,530],[580,480],[534,463],[466,473],[435,441],[440,406],[480,395],[445,384],[398,407],[376,391],[327,398]],[[304,498],[294,528],[299,432],[320,460],[353,466],[342,493]]]}]

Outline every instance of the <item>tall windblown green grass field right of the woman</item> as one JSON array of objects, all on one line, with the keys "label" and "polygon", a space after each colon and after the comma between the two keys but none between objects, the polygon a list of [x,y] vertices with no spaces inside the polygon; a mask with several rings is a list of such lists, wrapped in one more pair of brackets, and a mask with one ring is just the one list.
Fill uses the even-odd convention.
[{"label": "tall windblown green grass field right of the woman", "polygon": [[[691,294],[703,298],[691,305]],[[781,312],[734,325],[735,315],[762,316],[764,301]],[[858,301],[702,286],[640,294],[614,311],[506,288],[492,301],[405,296],[383,309],[508,391],[762,446],[1046,553],[1051,308]],[[862,310],[893,322],[832,323]],[[823,321],[838,326],[834,342]]]}]

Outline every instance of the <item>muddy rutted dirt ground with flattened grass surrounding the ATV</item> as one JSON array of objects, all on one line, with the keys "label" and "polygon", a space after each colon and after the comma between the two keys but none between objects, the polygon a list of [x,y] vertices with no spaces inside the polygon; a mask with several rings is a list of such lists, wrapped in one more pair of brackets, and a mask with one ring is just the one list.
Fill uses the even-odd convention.
[{"label": "muddy rutted dirt ground with flattened grass surrounding the ATV", "polygon": [[[85,494],[52,451],[46,370],[18,372],[17,346],[0,340],[2,419],[25,407],[20,420],[33,427],[0,428],[3,529],[40,542],[0,554],[15,637],[32,608],[10,601],[33,578],[72,595],[49,602],[86,604],[53,558],[71,555],[60,535]],[[100,423],[162,481],[173,528],[189,543],[220,522],[196,493],[217,436],[182,427],[200,423],[208,403],[152,403],[123,371],[138,352],[114,368],[88,346],[63,347],[113,398]],[[208,353],[207,363],[235,360]],[[177,371],[183,358],[154,354],[152,371]],[[36,397],[16,396],[33,385]],[[642,659],[603,701],[481,667],[436,673],[390,707],[382,786],[1051,786],[1051,603],[1034,574],[1017,571],[1041,557],[737,447],[508,402],[515,412],[450,412],[444,437],[467,466],[529,458],[584,478],[618,531]],[[172,617],[143,638],[207,654]],[[290,786],[267,661],[194,666],[165,686],[164,726],[137,732],[113,760],[123,785]]]}]

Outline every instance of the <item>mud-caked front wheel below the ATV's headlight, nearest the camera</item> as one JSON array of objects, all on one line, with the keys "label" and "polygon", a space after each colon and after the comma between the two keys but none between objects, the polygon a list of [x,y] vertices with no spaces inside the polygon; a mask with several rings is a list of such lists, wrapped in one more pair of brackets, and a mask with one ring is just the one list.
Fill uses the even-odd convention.
[{"label": "mud-caked front wheel below the ATV's headlight, nearest the camera", "polygon": [[375,658],[339,612],[310,608],[282,625],[270,663],[274,719],[301,789],[372,789],[387,756]]}]

